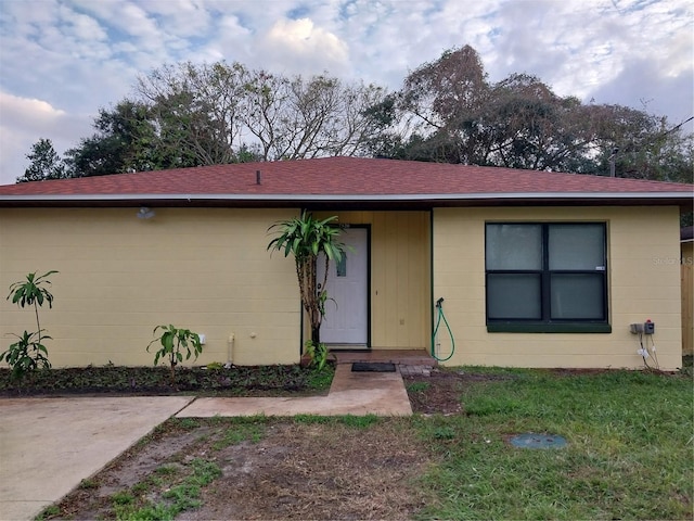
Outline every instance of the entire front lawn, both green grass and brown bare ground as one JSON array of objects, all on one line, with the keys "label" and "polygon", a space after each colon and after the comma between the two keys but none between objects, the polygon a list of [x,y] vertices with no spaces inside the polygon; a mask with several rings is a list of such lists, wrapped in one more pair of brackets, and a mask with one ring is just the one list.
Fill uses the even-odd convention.
[{"label": "entire front lawn, both green grass and brown bare ground", "polygon": [[[691,373],[466,367],[406,389],[410,418],[168,420],[44,518],[693,517]],[[516,448],[520,433],[567,445]],[[142,475],[152,455],[159,467]],[[206,466],[194,497],[170,497]]]}]

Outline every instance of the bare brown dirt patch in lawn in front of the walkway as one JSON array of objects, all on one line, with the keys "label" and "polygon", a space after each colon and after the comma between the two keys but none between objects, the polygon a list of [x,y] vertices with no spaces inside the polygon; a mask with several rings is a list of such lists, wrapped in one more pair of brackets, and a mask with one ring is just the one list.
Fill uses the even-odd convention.
[{"label": "bare brown dirt patch in lawn in front of the walkway", "polygon": [[282,423],[218,453],[222,476],[178,519],[409,519],[427,457],[402,422]]}]

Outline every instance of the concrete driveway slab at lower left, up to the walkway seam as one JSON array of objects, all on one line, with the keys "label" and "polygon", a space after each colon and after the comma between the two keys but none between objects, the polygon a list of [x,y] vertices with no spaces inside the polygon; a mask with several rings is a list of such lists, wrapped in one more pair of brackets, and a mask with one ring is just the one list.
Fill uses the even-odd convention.
[{"label": "concrete driveway slab at lower left, up to the walkway seam", "polygon": [[0,519],[33,519],[192,401],[0,399]]}]

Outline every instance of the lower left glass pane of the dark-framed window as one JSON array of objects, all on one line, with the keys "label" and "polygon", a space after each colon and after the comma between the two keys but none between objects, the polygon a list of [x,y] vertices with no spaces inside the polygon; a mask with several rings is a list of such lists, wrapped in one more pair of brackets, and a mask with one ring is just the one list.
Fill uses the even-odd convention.
[{"label": "lower left glass pane of the dark-framed window", "polygon": [[487,309],[490,319],[539,320],[540,276],[535,274],[489,274]]}]

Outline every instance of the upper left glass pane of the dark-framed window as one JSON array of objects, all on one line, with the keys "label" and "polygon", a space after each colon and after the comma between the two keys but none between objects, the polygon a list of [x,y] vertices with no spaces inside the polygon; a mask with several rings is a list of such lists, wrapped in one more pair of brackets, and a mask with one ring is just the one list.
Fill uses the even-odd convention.
[{"label": "upper left glass pane of the dark-framed window", "polygon": [[487,269],[542,269],[540,225],[487,225]]}]

